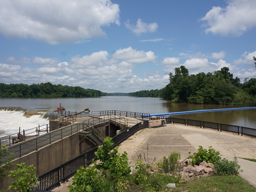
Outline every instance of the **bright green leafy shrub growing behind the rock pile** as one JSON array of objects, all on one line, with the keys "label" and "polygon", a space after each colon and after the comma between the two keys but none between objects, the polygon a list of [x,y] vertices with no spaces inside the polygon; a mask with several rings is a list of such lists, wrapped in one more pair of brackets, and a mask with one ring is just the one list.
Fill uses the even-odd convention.
[{"label": "bright green leafy shrub growing behind the rock pile", "polygon": [[211,146],[209,149],[204,149],[202,146],[199,146],[197,152],[189,156],[192,159],[192,165],[199,165],[203,161],[206,163],[215,163],[221,159],[219,151],[216,151]]}]

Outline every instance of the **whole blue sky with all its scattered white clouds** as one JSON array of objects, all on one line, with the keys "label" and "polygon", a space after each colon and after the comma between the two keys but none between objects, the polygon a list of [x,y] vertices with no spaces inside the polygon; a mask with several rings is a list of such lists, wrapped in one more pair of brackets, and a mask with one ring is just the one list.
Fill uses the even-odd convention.
[{"label": "whole blue sky with all its scattered white clouds", "polygon": [[162,89],[169,73],[256,78],[255,0],[6,0],[0,82]]}]

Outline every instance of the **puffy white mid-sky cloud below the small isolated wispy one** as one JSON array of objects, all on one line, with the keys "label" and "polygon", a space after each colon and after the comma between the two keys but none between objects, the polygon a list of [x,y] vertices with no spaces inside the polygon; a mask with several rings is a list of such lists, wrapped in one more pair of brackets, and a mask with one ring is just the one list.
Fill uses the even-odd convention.
[{"label": "puffy white mid-sky cloud below the small isolated wispy one", "polygon": [[130,63],[155,62],[156,55],[152,51],[137,51],[132,47],[117,50],[112,57],[117,60],[124,60]]}]

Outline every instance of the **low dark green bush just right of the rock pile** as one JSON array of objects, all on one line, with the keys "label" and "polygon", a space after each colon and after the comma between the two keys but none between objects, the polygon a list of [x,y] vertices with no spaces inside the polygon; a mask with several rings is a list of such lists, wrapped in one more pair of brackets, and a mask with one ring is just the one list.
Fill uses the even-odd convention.
[{"label": "low dark green bush just right of the rock pile", "polygon": [[234,161],[228,161],[226,158],[219,159],[214,162],[215,170],[217,170],[218,175],[230,175],[238,174],[240,171],[240,165],[238,165],[237,158],[234,157]]}]

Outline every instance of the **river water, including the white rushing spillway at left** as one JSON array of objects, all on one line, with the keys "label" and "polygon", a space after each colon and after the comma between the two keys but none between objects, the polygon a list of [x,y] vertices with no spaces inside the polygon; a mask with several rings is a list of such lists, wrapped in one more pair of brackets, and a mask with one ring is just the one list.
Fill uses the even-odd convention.
[{"label": "river water, including the white rushing spillway at left", "polygon": [[[91,111],[123,110],[149,114],[237,107],[227,105],[175,103],[160,98],[135,98],[124,96],[49,99],[0,98],[0,108],[21,108],[23,111],[37,108],[56,109],[59,106],[59,103],[61,103],[61,105],[65,107],[66,110],[70,111],[82,111],[85,108],[90,108]],[[22,129],[30,129],[38,126],[38,124],[42,125],[48,123],[46,119],[42,119],[38,116],[26,118],[23,116],[22,111],[0,111],[0,115],[0,137],[1,135],[18,132],[19,127]],[[256,129],[256,109],[198,113],[178,115],[175,117],[218,122]]]}]

